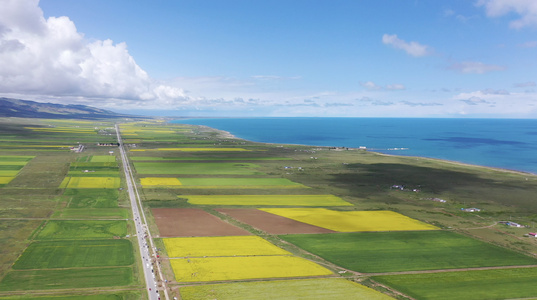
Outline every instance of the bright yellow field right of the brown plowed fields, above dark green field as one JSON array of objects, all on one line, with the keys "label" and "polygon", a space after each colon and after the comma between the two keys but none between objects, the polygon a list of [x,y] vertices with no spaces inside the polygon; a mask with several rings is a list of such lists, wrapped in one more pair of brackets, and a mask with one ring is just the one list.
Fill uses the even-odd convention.
[{"label": "bright yellow field right of the brown plowed fields, above dark green field", "polygon": [[261,210],[339,232],[438,230],[433,225],[393,211],[335,211],[325,208],[265,208]]}]

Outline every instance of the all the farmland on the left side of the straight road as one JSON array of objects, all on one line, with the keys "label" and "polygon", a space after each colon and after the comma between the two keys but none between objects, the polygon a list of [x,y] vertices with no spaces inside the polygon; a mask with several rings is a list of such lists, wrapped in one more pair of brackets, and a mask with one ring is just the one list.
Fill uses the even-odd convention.
[{"label": "all the farmland on the left side of the straight road", "polygon": [[141,299],[110,125],[0,121],[0,299]]}]

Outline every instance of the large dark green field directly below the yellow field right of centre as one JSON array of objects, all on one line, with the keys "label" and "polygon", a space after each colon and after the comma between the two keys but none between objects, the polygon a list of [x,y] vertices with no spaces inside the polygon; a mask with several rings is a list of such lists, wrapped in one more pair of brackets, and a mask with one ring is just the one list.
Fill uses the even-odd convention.
[{"label": "large dark green field directly below the yellow field right of centre", "polygon": [[280,237],[336,265],[363,273],[537,264],[535,258],[448,231]]}]

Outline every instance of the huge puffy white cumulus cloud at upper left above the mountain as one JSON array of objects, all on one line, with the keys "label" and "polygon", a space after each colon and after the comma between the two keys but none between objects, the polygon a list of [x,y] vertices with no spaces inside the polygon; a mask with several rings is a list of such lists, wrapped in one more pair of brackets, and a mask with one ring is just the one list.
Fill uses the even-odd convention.
[{"label": "huge puffy white cumulus cloud at upper left above the mountain", "polygon": [[68,17],[45,19],[38,0],[3,0],[0,92],[126,99],[160,104],[187,99],[138,66],[125,43],[89,42]]}]

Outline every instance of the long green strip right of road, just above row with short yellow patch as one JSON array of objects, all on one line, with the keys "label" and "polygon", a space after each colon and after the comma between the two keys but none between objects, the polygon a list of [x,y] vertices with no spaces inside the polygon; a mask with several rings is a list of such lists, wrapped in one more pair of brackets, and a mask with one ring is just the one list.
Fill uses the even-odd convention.
[{"label": "long green strip right of road, just above row with short yellow patch", "polygon": [[138,174],[264,175],[251,163],[135,162]]}]

